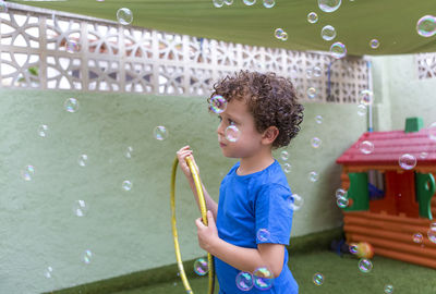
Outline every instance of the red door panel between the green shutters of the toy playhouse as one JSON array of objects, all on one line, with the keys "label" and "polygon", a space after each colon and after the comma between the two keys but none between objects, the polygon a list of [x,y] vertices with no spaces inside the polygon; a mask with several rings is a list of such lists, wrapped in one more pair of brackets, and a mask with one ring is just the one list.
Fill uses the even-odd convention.
[{"label": "red door panel between the green shutters of the toy playhouse", "polygon": [[396,215],[405,215],[410,218],[420,216],[420,206],[415,194],[415,174],[413,171],[386,171],[386,197],[393,199]]}]

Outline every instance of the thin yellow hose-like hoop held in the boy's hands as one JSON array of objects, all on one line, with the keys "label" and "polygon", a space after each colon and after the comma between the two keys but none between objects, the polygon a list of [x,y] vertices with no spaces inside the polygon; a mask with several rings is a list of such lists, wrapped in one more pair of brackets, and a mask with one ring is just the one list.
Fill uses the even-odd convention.
[{"label": "thin yellow hose-like hoop held in the boy's hands", "polygon": [[[199,181],[199,176],[197,173],[197,169],[194,166],[194,162],[190,157],[186,158],[186,163],[190,167],[191,173],[194,179],[195,188],[198,195],[198,203],[199,203],[199,210],[202,211],[203,223],[207,225],[207,208],[206,201],[203,195],[203,186],[202,182]],[[175,250],[175,259],[179,267],[180,278],[182,279],[184,289],[186,293],[194,293],[191,289],[190,282],[187,281],[186,273],[184,272],[182,256],[180,254],[180,246],[179,246],[179,237],[177,231],[177,223],[175,223],[175,173],[177,167],[179,164],[179,160],[175,157],[174,162],[172,163],[172,174],[171,174],[171,224],[172,224],[172,236],[174,240],[174,250]],[[209,290],[208,294],[214,293],[215,287],[215,267],[214,267],[214,258],[210,254],[207,254],[207,262],[209,268]]]}]

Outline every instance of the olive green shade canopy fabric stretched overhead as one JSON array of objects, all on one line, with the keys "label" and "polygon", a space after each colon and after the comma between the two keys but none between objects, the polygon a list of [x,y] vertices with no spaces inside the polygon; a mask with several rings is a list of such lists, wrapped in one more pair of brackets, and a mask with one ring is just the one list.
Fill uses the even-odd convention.
[{"label": "olive green shade canopy fabric stretched overhead", "polygon": [[[120,8],[128,8],[133,26],[253,46],[328,51],[332,42],[341,41],[349,56],[436,52],[436,35],[426,38],[416,32],[422,16],[436,16],[435,0],[342,0],[331,13],[322,11],[317,0],[276,0],[270,9],[263,0],[251,7],[234,0],[222,8],[215,8],[213,0],[15,2],[112,21]],[[307,22],[310,12],[318,14],[317,23]],[[325,25],[336,28],[334,40],[320,37]],[[288,40],[275,38],[278,27],[288,33]],[[371,48],[372,39],[379,40],[377,49]]]}]

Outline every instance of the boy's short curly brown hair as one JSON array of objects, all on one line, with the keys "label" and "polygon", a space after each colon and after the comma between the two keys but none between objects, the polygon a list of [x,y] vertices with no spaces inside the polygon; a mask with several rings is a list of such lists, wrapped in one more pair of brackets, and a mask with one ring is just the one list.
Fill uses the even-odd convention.
[{"label": "boy's short curly brown hair", "polygon": [[257,132],[276,126],[279,135],[272,143],[274,149],[288,146],[300,132],[304,107],[298,102],[289,78],[275,73],[240,71],[214,85],[214,93],[207,98],[209,105],[216,95],[221,95],[228,102],[233,98],[245,100]]}]

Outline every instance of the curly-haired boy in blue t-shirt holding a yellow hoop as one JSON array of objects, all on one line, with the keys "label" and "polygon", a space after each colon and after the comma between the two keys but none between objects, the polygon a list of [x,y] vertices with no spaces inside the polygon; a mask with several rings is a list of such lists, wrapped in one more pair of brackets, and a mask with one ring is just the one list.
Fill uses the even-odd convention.
[{"label": "curly-haired boy in blue t-shirt holding a yellow hoop", "polygon": [[[284,247],[292,226],[292,194],[271,151],[288,146],[298,134],[304,108],[296,101],[292,83],[274,73],[241,71],[219,81],[214,89],[210,97],[221,95],[227,100],[217,128],[222,154],[240,158],[221,182],[219,204],[203,185],[208,226],[201,219],[195,222],[199,246],[215,256],[219,294],[298,293]],[[226,138],[229,125],[240,131],[235,142]],[[182,147],[177,155],[198,204],[185,162],[189,156],[194,160],[190,146]],[[235,281],[241,272],[253,273],[259,268],[275,278],[267,280],[272,281],[269,290],[252,287],[250,283],[257,285],[255,281],[245,281],[242,285],[246,287],[241,287]],[[250,280],[253,275],[244,277]]]}]

